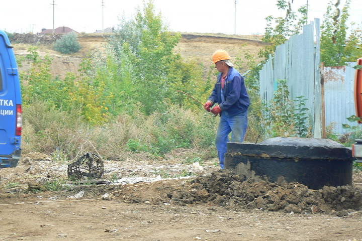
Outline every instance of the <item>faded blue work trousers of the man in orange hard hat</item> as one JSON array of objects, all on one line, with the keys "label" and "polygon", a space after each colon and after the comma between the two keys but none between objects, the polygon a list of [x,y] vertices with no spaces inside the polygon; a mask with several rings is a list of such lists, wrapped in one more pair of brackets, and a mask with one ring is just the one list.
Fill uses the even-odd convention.
[{"label": "faded blue work trousers of the man in orange hard hat", "polygon": [[230,132],[231,142],[243,142],[246,128],[247,111],[234,116],[229,116],[226,111],[221,112],[215,141],[221,169],[224,168],[224,155],[226,153],[226,143],[229,142],[228,136]]}]

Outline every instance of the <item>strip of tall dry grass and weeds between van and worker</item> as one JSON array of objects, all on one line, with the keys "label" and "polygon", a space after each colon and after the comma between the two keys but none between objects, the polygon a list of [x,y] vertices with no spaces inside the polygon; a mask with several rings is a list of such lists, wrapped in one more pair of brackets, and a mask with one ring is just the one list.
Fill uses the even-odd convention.
[{"label": "strip of tall dry grass and weeds between van and worker", "polygon": [[116,160],[125,151],[162,156],[176,148],[212,147],[218,122],[204,110],[176,105],[149,116],[135,109],[102,126],[82,122],[79,110],[69,114],[41,102],[26,106],[23,112],[23,153],[42,152],[67,160],[86,152]]}]

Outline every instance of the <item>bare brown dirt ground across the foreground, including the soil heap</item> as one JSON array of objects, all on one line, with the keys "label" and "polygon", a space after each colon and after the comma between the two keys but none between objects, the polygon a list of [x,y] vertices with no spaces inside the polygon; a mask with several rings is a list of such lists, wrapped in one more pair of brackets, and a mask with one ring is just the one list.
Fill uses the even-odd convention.
[{"label": "bare brown dirt ground across the foreground, including the soil heap", "polygon": [[361,172],[353,186],[311,190],[242,180],[186,152],[125,153],[104,163],[114,184],[53,191],[43,187],[65,180],[68,163],[25,154],[0,169],[0,240],[362,240]]}]

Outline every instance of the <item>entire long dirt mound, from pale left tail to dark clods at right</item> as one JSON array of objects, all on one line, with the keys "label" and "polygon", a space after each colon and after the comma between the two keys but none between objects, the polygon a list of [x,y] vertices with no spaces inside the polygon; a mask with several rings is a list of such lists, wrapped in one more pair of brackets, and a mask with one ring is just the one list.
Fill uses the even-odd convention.
[{"label": "entire long dirt mound, from pale left tail to dark clods at right", "polygon": [[[130,186],[132,187],[132,186]],[[125,202],[178,205],[206,203],[288,213],[345,216],[362,207],[362,189],[353,186],[311,190],[299,183],[242,180],[230,171],[214,171],[193,180],[161,181],[135,191],[124,189]],[[142,191],[140,191],[142,190]]]}]

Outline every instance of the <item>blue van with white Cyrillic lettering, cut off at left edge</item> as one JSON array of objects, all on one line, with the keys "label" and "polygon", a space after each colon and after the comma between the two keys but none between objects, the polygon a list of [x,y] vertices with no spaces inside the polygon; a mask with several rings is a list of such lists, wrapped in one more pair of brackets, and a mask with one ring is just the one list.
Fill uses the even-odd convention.
[{"label": "blue van with white Cyrillic lettering, cut off at left edge", "polygon": [[16,167],[20,158],[22,107],[13,46],[0,30],[0,168]]}]

